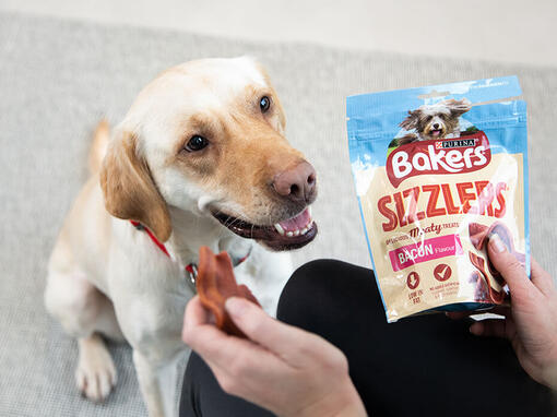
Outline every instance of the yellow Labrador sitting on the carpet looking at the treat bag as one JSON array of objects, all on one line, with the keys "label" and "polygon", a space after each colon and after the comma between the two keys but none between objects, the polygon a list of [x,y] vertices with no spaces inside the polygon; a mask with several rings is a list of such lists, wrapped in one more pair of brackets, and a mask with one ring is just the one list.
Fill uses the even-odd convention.
[{"label": "yellow Labrador sitting on the carpet looking at the treat bag", "polygon": [[112,132],[99,124],[91,178],[52,251],[45,291],[48,311],[78,338],[76,383],[88,398],[116,384],[106,335],[132,346],[150,416],[176,413],[182,315],[194,295],[187,271],[201,246],[245,259],[238,282],[274,313],[292,273],[285,250],[317,234],[316,172],[284,128],[266,73],[247,57],[171,68]]}]

